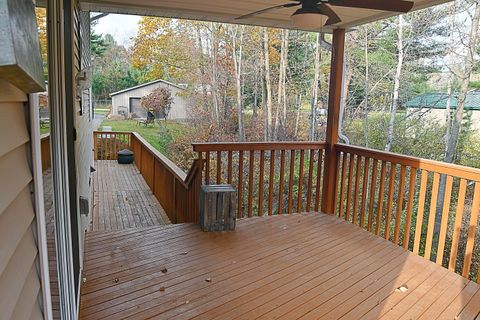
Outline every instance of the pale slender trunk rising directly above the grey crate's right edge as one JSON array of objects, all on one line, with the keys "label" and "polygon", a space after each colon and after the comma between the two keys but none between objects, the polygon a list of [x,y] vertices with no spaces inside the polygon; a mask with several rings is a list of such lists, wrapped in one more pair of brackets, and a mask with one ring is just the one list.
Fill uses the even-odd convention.
[{"label": "pale slender trunk rising directly above the grey crate's right edge", "polygon": [[[237,44],[238,28],[240,28],[240,39]],[[235,69],[235,84],[237,90],[237,118],[238,118],[238,135],[240,141],[245,141],[245,130],[243,125],[243,106],[242,106],[242,50],[243,50],[243,32],[244,26],[235,26],[232,35],[232,56]]]}]

